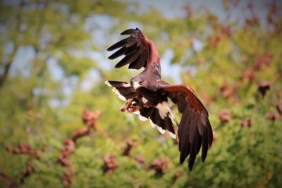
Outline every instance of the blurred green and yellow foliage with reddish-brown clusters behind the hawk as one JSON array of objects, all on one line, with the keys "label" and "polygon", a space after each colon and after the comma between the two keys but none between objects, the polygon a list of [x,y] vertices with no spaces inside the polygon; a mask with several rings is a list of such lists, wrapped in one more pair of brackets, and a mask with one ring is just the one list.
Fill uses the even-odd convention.
[{"label": "blurred green and yellow foliage with reddish-brown clusters behind the hawk", "polygon": [[[0,2],[0,187],[281,187],[281,1]],[[209,111],[192,172],[104,84],[140,73],[106,51],[135,27]]]}]

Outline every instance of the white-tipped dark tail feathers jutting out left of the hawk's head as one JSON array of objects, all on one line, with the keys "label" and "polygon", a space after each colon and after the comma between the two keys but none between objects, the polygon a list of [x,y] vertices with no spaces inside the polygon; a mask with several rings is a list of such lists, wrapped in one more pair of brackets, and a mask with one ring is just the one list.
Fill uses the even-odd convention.
[{"label": "white-tipped dark tail feathers jutting out left of the hawk's head", "polygon": [[106,81],[105,84],[109,87],[113,87],[113,92],[115,92],[118,95],[118,98],[123,101],[133,99],[138,96],[138,92],[127,82]]}]

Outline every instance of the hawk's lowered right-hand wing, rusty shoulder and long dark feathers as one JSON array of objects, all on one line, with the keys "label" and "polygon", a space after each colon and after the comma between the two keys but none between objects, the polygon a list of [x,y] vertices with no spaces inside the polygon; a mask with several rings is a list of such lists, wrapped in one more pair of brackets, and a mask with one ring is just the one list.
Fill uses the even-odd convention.
[{"label": "hawk's lowered right-hand wing, rusty shoulder and long dark feathers", "polygon": [[173,103],[177,104],[182,118],[178,127],[180,163],[189,157],[189,170],[202,146],[202,161],[207,156],[208,147],[212,145],[212,127],[209,114],[195,92],[186,85],[168,85],[161,89]]}]

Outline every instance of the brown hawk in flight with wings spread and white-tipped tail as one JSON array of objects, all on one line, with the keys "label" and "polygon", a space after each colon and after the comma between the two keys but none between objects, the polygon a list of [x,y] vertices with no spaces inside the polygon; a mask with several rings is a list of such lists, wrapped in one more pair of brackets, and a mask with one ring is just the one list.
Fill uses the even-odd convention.
[{"label": "brown hawk in flight with wings spread and white-tipped tail", "polygon": [[[166,130],[176,139],[179,138],[180,163],[189,156],[188,167],[192,170],[195,158],[202,146],[202,161],[212,145],[213,134],[209,123],[209,114],[195,92],[185,84],[168,84],[161,80],[160,57],[157,46],[138,29],[128,29],[121,35],[130,35],[107,50],[118,49],[109,59],[124,57],[116,68],[129,64],[128,68],[145,69],[128,82],[106,81],[126,101],[122,112],[139,114],[140,120],[149,119],[152,127],[164,134]],[[182,114],[180,122],[176,120],[168,99],[178,107]],[[176,126],[173,126],[175,122]],[[178,127],[178,129],[176,128]],[[177,131],[176,131],[177,130]]]}]

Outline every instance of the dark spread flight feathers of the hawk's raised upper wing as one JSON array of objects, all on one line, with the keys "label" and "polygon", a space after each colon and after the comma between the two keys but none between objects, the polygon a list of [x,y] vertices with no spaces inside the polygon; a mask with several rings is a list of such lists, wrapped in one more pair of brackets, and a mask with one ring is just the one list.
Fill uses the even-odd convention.
[{"label": "dark spread flight feathers of the hawk's raised upper wing", "polygon": [[118,58],[125,55],[124,58],[119,61],[115,68],[121,68],[123,65],[129,64],[128,68],[140,69],[147,65],[147,58],[149,54],[149,47],[145,35],[136,28],[125,30],[121,35],[130,35],[130,37],[122,39],[116,44],[110,46],[107,50],[113,51],[118,49],[114,54],[109,56],[109,59]]}]

